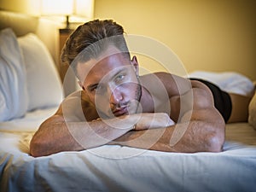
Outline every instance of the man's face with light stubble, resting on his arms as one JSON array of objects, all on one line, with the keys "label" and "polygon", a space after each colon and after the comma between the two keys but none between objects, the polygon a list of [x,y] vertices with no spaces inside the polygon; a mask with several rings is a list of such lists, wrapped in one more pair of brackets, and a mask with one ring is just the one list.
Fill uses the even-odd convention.
[{"label": "man's face with light stubble, resting on his arms", "polygon": [[136,113],[142,95],[136,59],[130,61],[112,49],[102,59],[78,66],[79,77],[84,77],[80,85],[102,118]]}]

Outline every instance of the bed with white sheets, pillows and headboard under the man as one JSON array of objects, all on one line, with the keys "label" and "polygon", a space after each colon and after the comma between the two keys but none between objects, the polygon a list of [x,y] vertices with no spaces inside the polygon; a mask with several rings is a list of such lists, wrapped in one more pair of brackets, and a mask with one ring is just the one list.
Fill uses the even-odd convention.
[{"label": "bed with white sheets, pillows and headboard under the man", "polygon": [[[5,30],[0,36],[0,191],[255,191],[256,96],[249,122],[226,125],[221,153],[165,153],[105,145],[32,157],[29,143],[34,132],[55,113],[63,97],[55,66],[57,27],[0,11],[0,29]],[[8,61],[9,68],[3,67]]]}]

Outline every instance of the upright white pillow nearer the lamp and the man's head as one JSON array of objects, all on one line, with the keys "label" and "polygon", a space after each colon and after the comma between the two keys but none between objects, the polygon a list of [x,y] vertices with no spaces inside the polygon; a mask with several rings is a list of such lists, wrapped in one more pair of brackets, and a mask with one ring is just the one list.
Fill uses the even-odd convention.
[{"label": "upright white pillow nearer the lamp and the man's head", "polygon": [[18,38],[26,66],[28,111],[57,106],[62,86],[55,63],[44,43],[32,33]]}]

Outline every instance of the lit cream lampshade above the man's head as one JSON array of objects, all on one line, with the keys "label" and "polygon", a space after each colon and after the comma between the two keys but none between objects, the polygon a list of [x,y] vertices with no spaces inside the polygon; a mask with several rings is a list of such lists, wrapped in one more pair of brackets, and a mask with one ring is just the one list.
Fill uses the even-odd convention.
[{"label": "lit cream lampshade above the man's head", "polygon": [[69,27],[70,17],[91,19],[93,17],[94,0],[41,0],[41,15],[66,16]]}]

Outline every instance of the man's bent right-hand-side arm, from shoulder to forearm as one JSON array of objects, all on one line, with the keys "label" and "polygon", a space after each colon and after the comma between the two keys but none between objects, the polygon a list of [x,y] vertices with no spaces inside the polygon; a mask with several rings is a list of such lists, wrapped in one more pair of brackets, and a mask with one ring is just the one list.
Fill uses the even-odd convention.
[{"label": "man's bent right-hand-side arm, from shoulder to forearm", "polygon": [[[219,152],[224,143],[224,119],[214,108],[210,90],[200,82],[192,82],[193,108],[182,113],[176,125],[162,129],[129,131],[111,144],[168,152]],[[181,99],[183,97],[183,99]],[[170,102],[180,106],[191,92],[172,96]],[[186,103],[186,106],[189,105]]]}]

